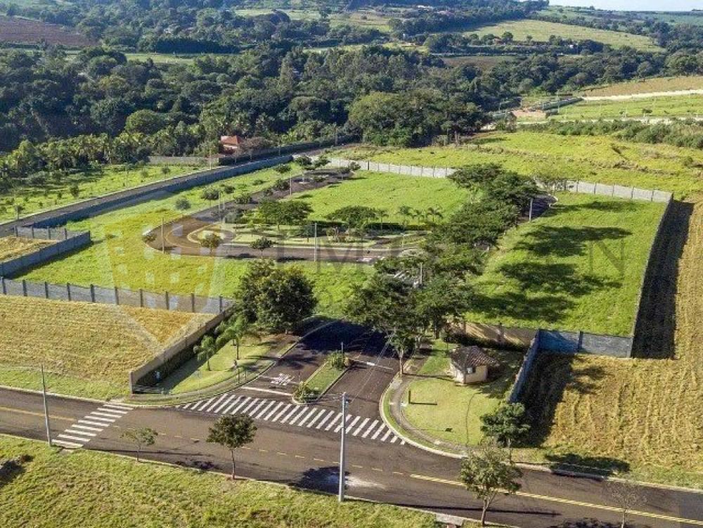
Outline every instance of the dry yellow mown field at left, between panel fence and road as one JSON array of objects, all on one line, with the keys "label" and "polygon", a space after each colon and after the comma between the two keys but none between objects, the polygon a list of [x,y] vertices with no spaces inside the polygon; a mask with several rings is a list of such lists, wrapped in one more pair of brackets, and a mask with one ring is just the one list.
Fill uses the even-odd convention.
[{"label": "dry yellow mown field at left, between panel fence and road", "polygon": [[51,392],[105,399],[129,392],[130,370],[212,316],[110,304],[0,296],[0,379]]}]

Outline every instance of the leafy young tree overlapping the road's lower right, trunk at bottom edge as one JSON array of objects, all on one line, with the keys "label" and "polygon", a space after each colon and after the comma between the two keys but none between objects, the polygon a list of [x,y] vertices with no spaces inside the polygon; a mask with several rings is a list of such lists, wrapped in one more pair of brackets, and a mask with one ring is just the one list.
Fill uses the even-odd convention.
[{"label": "leafy young tree overlapping the road's lower right, trunk at bottom edge", "polygon": [[514,494],[520,489],[520,477],[520,469],[498,446],[486,445],[463,458],[459,479],[482,502],[481,526],[486,525],[486,512],[499,493]]}]

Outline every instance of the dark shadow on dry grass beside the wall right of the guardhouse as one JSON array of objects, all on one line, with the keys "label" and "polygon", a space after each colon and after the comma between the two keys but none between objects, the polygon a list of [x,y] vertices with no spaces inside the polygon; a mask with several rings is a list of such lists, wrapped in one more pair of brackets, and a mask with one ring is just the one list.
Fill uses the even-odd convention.
[{"label": "dark shadow on dry grass beside the wall right of the guardhouse", "polygon": [[541,354],[535,360],[520,396],[531,425],[524,445],[536,447],[545,442],[567,388],[583,395],[598,390],[598,381],[605,376],[603,369],[579,367],[578,361],[577,356],[562,354]]}]

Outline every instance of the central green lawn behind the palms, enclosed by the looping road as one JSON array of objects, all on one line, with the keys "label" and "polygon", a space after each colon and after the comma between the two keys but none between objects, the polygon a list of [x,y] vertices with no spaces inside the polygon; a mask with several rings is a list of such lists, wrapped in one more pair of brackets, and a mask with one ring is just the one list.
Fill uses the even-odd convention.
[{"label": "central green lawn behind the palms, enclosed by the looping road", "polygon": [[[338,185],[294,195],[293,199],[312,207],[312,220],[324,220],[331,212],[348,205],[365,205],[383,210],[384,221],[402,224],[404,217],[398,214],[402,205],[420,211],[439,207],[446,216],[457,210],[468,196],[467,191],[446,179],[361,171]],[[411,219],[410,223],[418,221]]]}]

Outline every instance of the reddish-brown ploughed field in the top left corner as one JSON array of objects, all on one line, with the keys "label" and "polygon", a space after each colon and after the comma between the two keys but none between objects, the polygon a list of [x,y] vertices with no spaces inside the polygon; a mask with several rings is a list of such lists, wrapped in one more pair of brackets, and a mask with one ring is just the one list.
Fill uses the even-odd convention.
[{"label": "reddish-brown ploughed field in the top left corner", "polygon": [[29,18],[0,16],[0,41],[11,44],[63,44],[69,48],[91,46],[95,42],[65,27]]}]

